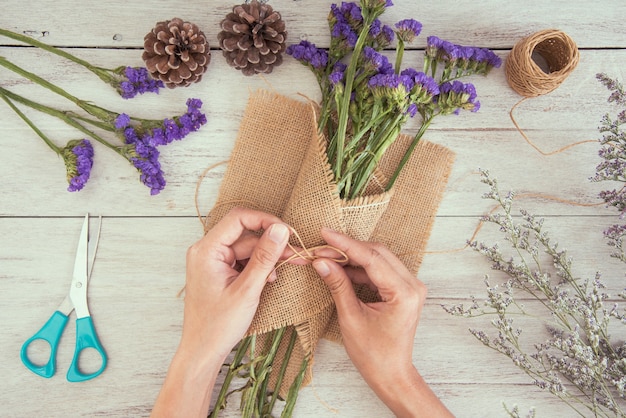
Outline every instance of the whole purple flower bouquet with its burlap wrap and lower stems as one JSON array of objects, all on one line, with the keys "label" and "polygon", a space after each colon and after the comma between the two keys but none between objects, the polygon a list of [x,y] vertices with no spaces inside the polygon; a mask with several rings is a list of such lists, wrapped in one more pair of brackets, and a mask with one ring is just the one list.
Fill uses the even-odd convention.
[{"label": "whole purple flower bouquet with its burlap wrap and lower stems", "polygon": [[[385,244],[417,273],[454,158],[420,140],[436,116],[479,109],[474,86],[457,79],[487,74],[500,59],[429,37],[424,71],[402,69],[405,45],[421,24],[384,25],[379,17],[390,5],[332,5],[328,50],[308,41],[287,48],[315,74],[321,103],[251,96],[206,229],[233,206],[248,206],[291,225],[301,239],[296,245],[322,245],[320,230],[329,227]],[[381,51],[396,37],[392,65]],[[418,114],[417,134],[400,134]],[[241,393],[244,416],[270,416],[278,398],[287,400],[282,415],[289,416],[299,388],[311,379],[319,339],[341,340],[332,297],[314,269],[286,264],[277,274],[226,365],[212,416],[233,392]],[[367,288],[357,294],[377,300]],[[231,388],[238,378],[244,383]]]}]

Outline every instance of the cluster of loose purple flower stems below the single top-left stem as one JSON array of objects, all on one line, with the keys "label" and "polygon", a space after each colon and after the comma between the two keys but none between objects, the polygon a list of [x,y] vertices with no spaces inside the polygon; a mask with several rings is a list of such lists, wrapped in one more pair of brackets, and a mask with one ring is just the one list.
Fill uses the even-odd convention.
[{"label": "cluster of loose purple flower stems below the single top-left stem", "polygon": [[[175,116],[172,119],[166,118],[164,120],[141,119],[130,117],[125,113],[119,114],[91,102],[79,99],[36,74],[15,65],[6,58],[0,57],[0,66],[14,71],[68,99],[92,116],[86,117],[76,112],[58,110],[0,87],[0,96],[4,101],[9,104],[52,150],[63,157],[68,172],[69,191],[81,190],[89,179],[89,172],[91,165],[93,165],[93,148],[91,148],[91,165],[89,166],[89,170],[87,170],[84,157],[88,155],[88,153],[85,151],[85,143],[82,143],[83,146],[77,148],[77,145],[70,141],[64,149],[60,149],[17,108],[15,102],[50,116],[57,117],[86,136],[93,138],[97,142],[115,151],[139,171],[140,181],[150,189],[151,195],[160,193],[160,191],[165,188],[166,184],[158,159],[159,151],[157,150],[157,146],[167,145],[172,141],[180,140],[189,133],[200,129],[207,121],[206,116],[200,111],[202,102],[199,99],[187,100],[187,112],[181,116]],[[110,143],[93,129],[88,128],[87,125],[115,133],[122,144]],[[89,147],[91,147],[90,143]]]}]

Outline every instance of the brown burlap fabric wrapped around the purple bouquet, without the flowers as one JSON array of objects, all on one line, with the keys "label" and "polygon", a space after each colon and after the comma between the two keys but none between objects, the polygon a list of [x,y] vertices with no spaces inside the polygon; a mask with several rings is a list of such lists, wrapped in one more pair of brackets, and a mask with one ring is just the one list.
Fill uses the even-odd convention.
[{"label": "brown burlap fabric wrapped around the purple bouquet, without the flowers", "polygon": [[[454,154],[422,141],[392,191],[381,185],[402,158],[411,138],[401,135],[385,155],[367,197],[339,198],[325,155],[325,140],[317,133],[310,103],[259,91],[251,95],[217,202],[206,227],[232,207],[246,206],[281,217],[307,247],[323,244],[322,227],[343,231],[360,240],[387,245],[417,273]],[[294,242],[298,245],[297,242]],[[320,338],[340,341],[330,293],[311,266],[284,265],[278,279],[266,286],[249,333],[266,334],[289,326],[298,333],[281,393],[297,374],[305,353],[315,351]],[[364,300],[375,295],[358,289]],[[279,350],[278,359],[286,347]],[[261,337],[262,347],[263,337]],[[310,381],[312,361],[305,375]],[[278,367],[275,367],[278,369]]]}]

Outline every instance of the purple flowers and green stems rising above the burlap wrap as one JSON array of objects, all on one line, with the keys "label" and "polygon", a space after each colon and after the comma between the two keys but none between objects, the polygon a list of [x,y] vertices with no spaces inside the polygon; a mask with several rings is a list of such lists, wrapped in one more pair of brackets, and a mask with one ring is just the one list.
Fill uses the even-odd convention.
[{"label": "purple flowers and green stems rising above the burlap wrap", "polygon": [[[403,19],[395,30],[383,24],[379,17],[390,5],[383,0],[333,4],[328,16],[328,51],[306,40],[286,51],[309,67],[319,83],[318,125],[328,138],[328,160],[344,198],[364,192],[402,126],[419,113],[421,126],[389,179],[387,187],[391,188],[436,116],[480,108],[474,86],[456,79],[486,75],[501,65],[500,58],[488,49],[429,37],[424,70],[402,69],[405,45],[419,36],[422,24]],[[396,37],[392,65],[381,51]]]}]

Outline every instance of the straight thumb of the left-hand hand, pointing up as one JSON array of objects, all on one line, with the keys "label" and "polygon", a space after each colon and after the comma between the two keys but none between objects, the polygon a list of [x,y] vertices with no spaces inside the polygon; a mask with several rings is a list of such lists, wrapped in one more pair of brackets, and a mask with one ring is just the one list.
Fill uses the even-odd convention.
[{"label": "straight thumb of the left-hand hand, pointing up", "polygon": [[[240,286],[252,289],[255,294],[261,294],[268,276],[285,251],[288,239],[287,225],[283,223],[270,225],[259,238],[246,267],[237,279]],[[242,290],[245,291],[245,289]]]}]

